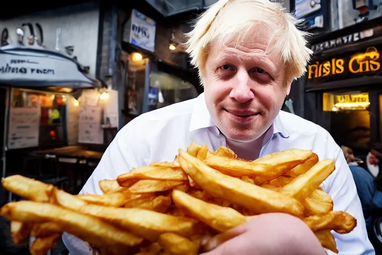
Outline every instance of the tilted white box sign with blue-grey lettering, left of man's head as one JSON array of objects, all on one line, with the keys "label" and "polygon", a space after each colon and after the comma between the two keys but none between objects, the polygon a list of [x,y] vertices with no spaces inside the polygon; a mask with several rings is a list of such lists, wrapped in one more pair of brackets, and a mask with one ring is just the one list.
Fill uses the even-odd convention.
[{"label": "tilted white box sign with blue-grey lettering, left of man's head", "polygon": [[129,43],[154,52],[156,23],[141,12],[131,13]]}]

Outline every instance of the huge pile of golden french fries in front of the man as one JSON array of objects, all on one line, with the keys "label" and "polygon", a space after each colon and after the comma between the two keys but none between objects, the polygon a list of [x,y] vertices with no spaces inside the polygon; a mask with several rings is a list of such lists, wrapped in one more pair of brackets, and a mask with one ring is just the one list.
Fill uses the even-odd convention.
[{"label": "huge pile of golden french fries in front of the man", "polygon": [[101,180],[103,195],[71,195],[20,175],[3,187],[26,200],[10,202],[0,214],[11,221],[15,244],[34,237],[33,255],[46,255],[63,232],[85,241],[101,255],[197,255],[201,240],[256,215],[282,212],[302,219],[322,247],[338,253],[331,231],[351,232],[356,219],[333,212],[320,187],[334,161],[310,150],[289,149],[254,161],[227,147],[209,151],[192,142],[174,162],[132,169],[116,180]]}]

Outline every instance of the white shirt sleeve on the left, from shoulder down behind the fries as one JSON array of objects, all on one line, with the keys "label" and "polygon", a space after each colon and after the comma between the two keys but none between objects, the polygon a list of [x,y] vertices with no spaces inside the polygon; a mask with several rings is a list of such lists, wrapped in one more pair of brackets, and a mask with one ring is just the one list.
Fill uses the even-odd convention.
[{"label": "white shirt sleeve on the left, from shoulder down behind the fries", "polygon": [[[134,121],[122,128],[90,176],[80,194],[102,195],[100,180],[115,180],[118,175],[131,169],[147,165],[150,158],[148,143],[141,139],[140,132],[135,131]],[[92,249],[77,237],[64,233],[62,240],[71,255],[92,255]]]}]

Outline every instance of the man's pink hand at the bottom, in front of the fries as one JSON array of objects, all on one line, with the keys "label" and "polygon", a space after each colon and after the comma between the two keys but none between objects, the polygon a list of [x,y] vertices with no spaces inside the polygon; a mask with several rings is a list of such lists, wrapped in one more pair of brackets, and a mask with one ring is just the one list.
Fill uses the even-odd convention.
[{"label": "man's pink hand at the bottom, in front of the fries", "polygon": [[326,255],[300,219],[282,213],[255,216],[203,244],[203,255]]}]

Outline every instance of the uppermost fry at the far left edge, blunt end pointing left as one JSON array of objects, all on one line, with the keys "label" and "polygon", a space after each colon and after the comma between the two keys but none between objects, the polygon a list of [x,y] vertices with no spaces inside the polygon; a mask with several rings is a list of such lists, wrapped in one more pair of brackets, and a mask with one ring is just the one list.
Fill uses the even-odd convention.
[{"label": "uppermost fry at the far left edge, blunt end pointing left", "polygon": [[4,189],[27,199],[37,202],[48,202],[45,190],[49,184],[36,181],[21,175],[11,175],[1,181]]}]

